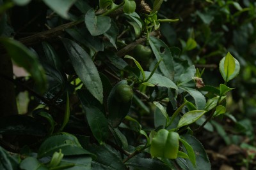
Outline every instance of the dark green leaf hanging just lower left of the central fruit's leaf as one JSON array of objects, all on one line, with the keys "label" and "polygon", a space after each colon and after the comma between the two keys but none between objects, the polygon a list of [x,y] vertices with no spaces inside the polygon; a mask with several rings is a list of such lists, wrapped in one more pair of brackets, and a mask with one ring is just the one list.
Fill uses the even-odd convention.
[{"label": "dark green leaf hanging just lower left of the central fruit's leaf", "polygon": [[99,108],[85,107],[86,118],[93,136],[101,144],[109,137],[108,120]]}]

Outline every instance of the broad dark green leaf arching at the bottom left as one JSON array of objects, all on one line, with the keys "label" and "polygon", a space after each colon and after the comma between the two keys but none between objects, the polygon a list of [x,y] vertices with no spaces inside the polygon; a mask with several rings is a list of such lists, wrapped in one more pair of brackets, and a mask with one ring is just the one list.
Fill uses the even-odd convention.
[{"label": "broad dark green leaf arching at the bottom left", "polygon": [[94,156],[92,153],[82,148],[74,135],[61,133],[45,139],[38,149],[38,158],[51,156],[54,152],[58,152],[59,150],[61,150],[64,155]]}]

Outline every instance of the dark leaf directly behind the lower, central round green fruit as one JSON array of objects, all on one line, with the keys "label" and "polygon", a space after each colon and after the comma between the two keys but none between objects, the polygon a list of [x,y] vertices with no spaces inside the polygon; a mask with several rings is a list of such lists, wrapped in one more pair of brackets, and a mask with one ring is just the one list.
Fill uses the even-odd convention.
[{"label": "dark leaf directly behind the lower, central round green fruit", "polygon": [[122,80],[116,83],[108,97],[108,119],[113,127],[117,127],[122,122],[131,107],[131,101],[122,103],[116,100],[116,87],[121,84],[127,84],[127,81]]}]

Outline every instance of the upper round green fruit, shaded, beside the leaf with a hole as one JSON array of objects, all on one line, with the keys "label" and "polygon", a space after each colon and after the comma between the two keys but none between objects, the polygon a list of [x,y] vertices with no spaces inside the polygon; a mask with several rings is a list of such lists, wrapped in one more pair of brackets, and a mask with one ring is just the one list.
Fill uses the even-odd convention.
[{"label": "upper round green fruit, shaded, beside the leaf with a hole", "polygon": [[145,61],[152,56],[152,50],[149,46],[136,45],[133,49],[133,55],[135,59]]}]

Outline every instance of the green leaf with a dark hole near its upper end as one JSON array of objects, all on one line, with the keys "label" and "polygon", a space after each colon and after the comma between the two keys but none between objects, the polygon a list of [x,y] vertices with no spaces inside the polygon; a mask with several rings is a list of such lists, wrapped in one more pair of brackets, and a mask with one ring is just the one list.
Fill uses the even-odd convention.
[{"label": "green leaf with a dark hole near its upper end", "polygon": [[164,76],[170,78],[170,80],[173,80],[174,65],[170,48],[164,43],[164,41],[154,36],[149,36],[148,40],[157,61],[162,60],[162,62],[159,64],[160,70]]}]

